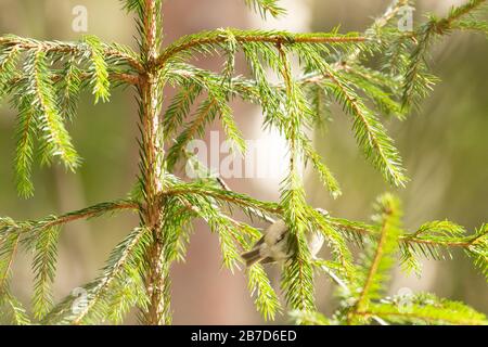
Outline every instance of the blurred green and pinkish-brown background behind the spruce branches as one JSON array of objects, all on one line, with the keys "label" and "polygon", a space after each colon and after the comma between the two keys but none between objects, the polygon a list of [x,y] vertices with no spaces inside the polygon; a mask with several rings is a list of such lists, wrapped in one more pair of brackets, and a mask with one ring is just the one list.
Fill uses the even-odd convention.
[{"label": "blurred green and pinkish-brown background behind the spruce branches", "polygon": [[[420,0],[415,21],[422,13],[444,14],[454,0]],[[77,40],[82,33],[72,30],[75,5],[88,9],[88,34],[106,41],[133,48],[133,20],[120,11],[118,0],[0,0],[0,33],[38,39]],[[286,0],[288,15],[264,23],[243,5],[230,0],[167,0],[165,2],[165,43],[196,30],[216,27],[282,28],[294,31],[363,30],[372,18],[389,4],[385,0]],[[419,23],[419,22],[418,22]],[[468,230],[488,221],[488,43],[480,35],[454,35],[434,52],[435,73],[441,82],[422,112],[400,123],[388,123],[390,134],[403,156],[411,182],[404,190],[385,184],[364,162],[350,131],[350,123],[341,110],[333,110],[326,133],[314,136],[316,145],[326,158],[343,188],[343,196],[332,201],[319,188],[313,176],[307,177],[308,200],[334,216],[368,220],[375,196],[394,191],[403,201],[404,224],[414,229],[435,219],[450,219]],[[198,65],[217,68],[221,62],[205,60]],[[241,66],[244,64],[241,62]],[[168,91],[168,95],[171,91]],[[260,130],[259,111],[234,103],[237,121],[246,139],[281,143],[281,139]],[[69,126],[75,145],[84,157],[77,175],[61,167],[36,168],[36,195],[28,201],[17,197],[13,184],[15,113],[8,104],[0,106],[0,216],[38,219],[50,214],[79,209],[98,202],[126,196],[132,187],[138,165],[137,110],[133,92],[114,90],[111,103],[93,106],[86,93],[78,116]],[[275,149],[275,146],[274,146]],[[262,155],[267,146],[259,150]],[[275,155],[284,155],[278,149]],[[269,153],[268,153],[269,154]],[[259,158],[258,158],[259,160]],[[231,179],[232,189],[254,196],[277,200],[280,179]],[[119,215],[64,228],[60,246],[55,296],[61,298],[74,287],[93,279],[110,250],[138,220]],[[252,324],[261,323],[246,290],[241,271],[232,274],[221,268],[218,240],[208,228],[196,222],[188,260],[172,269],[172,310],[176,324]],[[266,227],[260,224],[259,227]],[[270,268],[278,284],[279,271]],[[14,267],[14,293],[26,303],[31,293],[29,257],[21,255]],[[322,311],[333,310],[329,281],[319,278],[317,298]],[[422,279],[396,274],[391,294],[408,287],[413,292],[432,291],[464,300],[488,313],[488,291],[483,277],[462,254],[454,261],[425,261]],[[286,322],[280,317],[278,322]],[[128,323],[134,322],[129,319]]]}]

